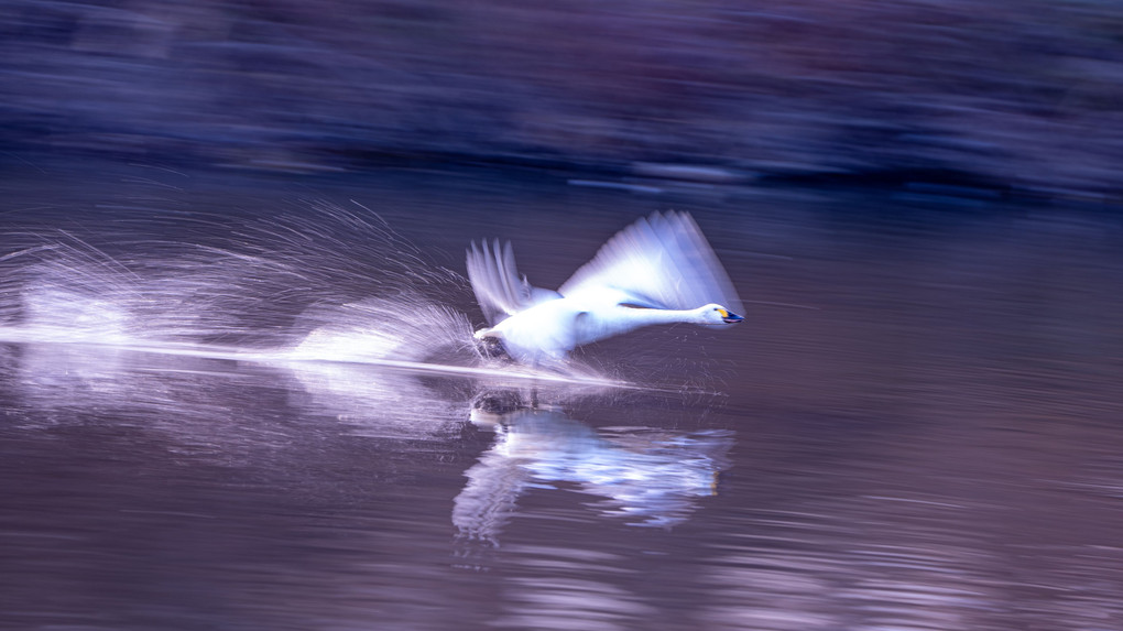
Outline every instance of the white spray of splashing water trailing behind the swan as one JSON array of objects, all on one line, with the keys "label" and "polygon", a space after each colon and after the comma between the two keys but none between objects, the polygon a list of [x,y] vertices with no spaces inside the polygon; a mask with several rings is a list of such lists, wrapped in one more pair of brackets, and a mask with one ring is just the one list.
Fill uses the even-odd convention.
[{"label": "white spray of splashing water trailing behind the swan", "polygon": [[[444,304],[467,300],[459,274],[429,262],[364,207],[308,207],[232,226],[197,218],[209,234],[223,228],[219,244],[11,231],[9,240],[24,247],[0,256],[0,339],[537,374],[480,354],[469,319]],[[538,376],[608,383],[579,367]]]}]

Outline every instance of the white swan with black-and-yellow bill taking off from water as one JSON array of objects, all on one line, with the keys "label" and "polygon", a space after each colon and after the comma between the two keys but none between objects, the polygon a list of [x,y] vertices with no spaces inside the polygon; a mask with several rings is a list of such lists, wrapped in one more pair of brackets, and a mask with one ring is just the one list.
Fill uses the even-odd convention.
[{"label": "white swan with black-and-yellow bill taking off from water", "polygon": [[557,365],[578,346],[640,327],[728,328],[745,319],[734,312],[741,303],[718,256],[685,212],[639,219],[557,291],[519,275],[510,241],[473,241],[467,271],[491,324],[476,340],[501,344],[513,359],[536,366]]}]

